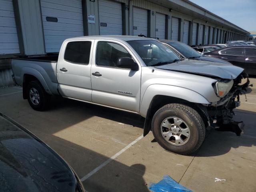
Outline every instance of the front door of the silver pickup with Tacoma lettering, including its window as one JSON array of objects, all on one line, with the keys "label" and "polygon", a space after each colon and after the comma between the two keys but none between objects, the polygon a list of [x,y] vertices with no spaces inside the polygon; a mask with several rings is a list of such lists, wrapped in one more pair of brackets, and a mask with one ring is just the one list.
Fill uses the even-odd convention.
[{"label": "front door of the silver pickup with Tacoma lettering, including its window", "polygon": [[[97,49],[97,50],[96,50]],[[114,108],[139,112],[141,71],[118,68],[120,57],[131,57],[124,46],[116,42],[98,42],[96,60],[92,64],[92,102]]]}]

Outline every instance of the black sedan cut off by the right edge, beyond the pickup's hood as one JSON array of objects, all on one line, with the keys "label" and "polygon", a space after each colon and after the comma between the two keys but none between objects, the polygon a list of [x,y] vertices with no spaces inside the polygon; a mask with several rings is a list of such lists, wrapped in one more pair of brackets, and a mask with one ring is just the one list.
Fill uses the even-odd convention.
[{"label": "black sedan cut off by the right edge, beyond the pickup's hood", "polygon": [[220,58],[233,65],[242,67],[247,74],[256,74],[256,46],[230,46],[208,52],[206,55]]}]

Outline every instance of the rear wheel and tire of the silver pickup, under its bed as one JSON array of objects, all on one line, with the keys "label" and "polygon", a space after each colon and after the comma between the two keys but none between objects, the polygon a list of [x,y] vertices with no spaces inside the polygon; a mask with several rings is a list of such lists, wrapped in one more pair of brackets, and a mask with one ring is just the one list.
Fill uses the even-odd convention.
[{"label": "rear wheel and tire of the silver pickup, under its bed", "polygon": [[44,111],[50,104],[50,95],[46,93],[39,81],[31,81],[26,87],[28,103],[36,111]]}]

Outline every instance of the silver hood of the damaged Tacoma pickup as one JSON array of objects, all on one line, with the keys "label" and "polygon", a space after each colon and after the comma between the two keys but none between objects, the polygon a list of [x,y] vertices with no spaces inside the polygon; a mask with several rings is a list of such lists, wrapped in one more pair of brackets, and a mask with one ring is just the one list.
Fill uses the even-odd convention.
[{"label": "silver hood of the damaged Tacoma pickup", "polygon": [[197,60],[183,60],[171,64],[156,66],[156,68],[214,76],[223,79],[235,79],[244,70],[243,68],[234,66],[232,64],[222,64]]}]

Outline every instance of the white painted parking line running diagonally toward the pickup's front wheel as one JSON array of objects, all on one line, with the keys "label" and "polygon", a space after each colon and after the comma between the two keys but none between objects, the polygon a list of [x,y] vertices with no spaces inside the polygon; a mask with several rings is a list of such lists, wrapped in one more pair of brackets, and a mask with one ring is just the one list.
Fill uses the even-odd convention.
[{"label": "white painted parking line running diagonally toward the pickup's front wheel", "polygon": [[141,140],[143,138],[143,135],[141,135],[140,137],[138,137],[136,140],[134,140],[133,142],[131,142],[130,144],[128,144],[125,148],[123,148],[122,150],[120,150],[119,152],[117,152],[116,154],[114,154],[112,157],[110,157],[108,160],[106,160],[104,163],[100,164],[98,167],[96,167],[94,170],[92,170],[90,173],[88,173],[86,176],[82,177],[80,180],[81,181],[85,181],[86,179],[88,179],[90,176],[92,176],[93,174],[95,174],[96,172],[98,172],[101,168],[103,168],[104,166],[106,166],[107,164],[109,164],[112,160],[114,160],[115,158],[117,158],[120,154],[122,154],[123,152],[125,152],[128,148],[130,148],[131,146],[133,146],[136,142],[138,142],[139,140]]}]

